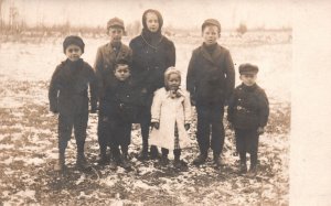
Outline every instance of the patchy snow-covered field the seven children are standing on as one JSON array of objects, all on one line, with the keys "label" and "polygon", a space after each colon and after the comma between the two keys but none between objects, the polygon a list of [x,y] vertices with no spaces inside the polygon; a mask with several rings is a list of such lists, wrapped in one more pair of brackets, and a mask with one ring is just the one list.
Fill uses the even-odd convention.
[{"label": "patchy snow-covered field the seven children are standing on", "polygon": [[[97,165],[90,173],[76,171],[72,139],[66,153],[68,172],[53,172],[57,119],[49,112],[47,87],[55,66],[65,59],[62,41],[0,44],[0,205],[288,205],[290,42],[233,44],[235,40],[221,39],[231,51],[236,74],[242,63],[259,66],[258,84],[270,99],[269,124],[260,137],[260,170],[257,177],[248,178],[236,174],[238,156],[234,155],[233,132],[228,129],[221,170],[212,166],[212,160],[201,167],[191,164],[197,154],[195,121],[191,129],[192,148],[182,155],[189,162],[188,171],[177,171],[171,165],[161,167],[157,161],[139,162],[136,154],[141,138],[134,126],[134,171],[111,172],[108,166]],[[107,39],[84,41],[83,58],[93,65],[97,47]],[[128,41],[125,37],[124,42]],[[200,40],[173,41],[177,67],[185,75],[192,50],[200,45]],[[238,75],[236,78],[238,85]],[[97,116],[92,115],[86,154],[94,164],[98,154],[96,123]]]}]

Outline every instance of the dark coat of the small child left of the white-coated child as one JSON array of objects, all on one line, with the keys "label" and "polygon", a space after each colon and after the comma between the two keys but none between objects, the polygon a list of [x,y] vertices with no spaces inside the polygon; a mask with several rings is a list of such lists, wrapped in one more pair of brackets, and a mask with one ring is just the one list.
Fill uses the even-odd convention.
[{"label": "dark coat of the small child left of the white-coated child", "polygon": [[105,86],[100,109],[110,121],[134,122],[138,112],[136,96],[131,78],[121,82],[114,77],[114,80]]}]

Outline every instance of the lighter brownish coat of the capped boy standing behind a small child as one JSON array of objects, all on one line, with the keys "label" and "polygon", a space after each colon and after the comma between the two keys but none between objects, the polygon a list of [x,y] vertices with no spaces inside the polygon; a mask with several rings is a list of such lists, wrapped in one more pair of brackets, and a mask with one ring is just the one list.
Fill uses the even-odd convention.
[{"label": "lighter brownish coat of the capped boy standing behind a small child", "polygon": [[[117,54],[118,52],[118,54]],[[98,82],[98,97],[105,95],[105,85],[113,80],[114,69],[118,61],[125,59],[131,63],[131,50],[121,44],[119,51],[115,51],[110,43],[100,46],[97,51],[94,69]]]}]

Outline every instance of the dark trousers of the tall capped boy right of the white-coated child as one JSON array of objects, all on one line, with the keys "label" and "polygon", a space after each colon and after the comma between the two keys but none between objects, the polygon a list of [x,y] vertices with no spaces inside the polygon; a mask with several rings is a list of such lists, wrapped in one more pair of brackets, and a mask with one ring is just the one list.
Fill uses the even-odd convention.
[{"label": "dark trousers of the tall capped boy right of the white-coated child", "polygon": [[[207,154],[212,148],[214,154],[222,153],[224,144],[224,107],[220,106],[196,106],[197,129],[196,139],[202,154]],[[212,132],[212,134],[211,134]]]}]

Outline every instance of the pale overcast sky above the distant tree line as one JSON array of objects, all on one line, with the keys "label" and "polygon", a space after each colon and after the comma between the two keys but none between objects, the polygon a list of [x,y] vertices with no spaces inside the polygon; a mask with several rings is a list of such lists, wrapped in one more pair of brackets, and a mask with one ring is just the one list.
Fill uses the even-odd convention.
[{"label": "pale overcast sky above the distant tree line", "polygon": [[105,26],[113,17],[125,23],[141,21],[142,12],[151,8],[162,13],[166,26],[200,28],[204,19],[216,18],[224,29],[236,28],[241,22],[248,28],[277,29],[291,26],[293,4],[289,0],[4,0],[1,15],[8,21],[13,6],[29,25],[70,21],[72,25]]}]

